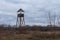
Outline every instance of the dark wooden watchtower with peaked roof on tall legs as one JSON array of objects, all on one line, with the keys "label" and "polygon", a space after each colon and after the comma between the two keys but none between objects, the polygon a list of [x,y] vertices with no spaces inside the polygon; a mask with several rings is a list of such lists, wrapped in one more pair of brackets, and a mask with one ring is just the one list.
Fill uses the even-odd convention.
[{"label": "dark wooden watchtower with peaked roof on tall legs", "polygon": [[24,20],[24,10],[23,9],[19,9],[17,11],[17,22],[16,22],[16,25],[21,27],[21,26],[24,26],[25,25],[25,20]]}]

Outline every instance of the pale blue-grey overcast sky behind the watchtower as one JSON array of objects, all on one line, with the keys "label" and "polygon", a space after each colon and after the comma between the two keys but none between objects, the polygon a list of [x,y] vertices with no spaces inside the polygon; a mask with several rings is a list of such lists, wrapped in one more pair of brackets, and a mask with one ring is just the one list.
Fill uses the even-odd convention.
[{"label": "pale blue-grey overcast sky behind the watchtower", "polygon": [[49,11],[52,16],[60,15],[60,0],[0,0],[0,23],[16,24],[20,8],[25,11],[26,24],[47,25]]}]

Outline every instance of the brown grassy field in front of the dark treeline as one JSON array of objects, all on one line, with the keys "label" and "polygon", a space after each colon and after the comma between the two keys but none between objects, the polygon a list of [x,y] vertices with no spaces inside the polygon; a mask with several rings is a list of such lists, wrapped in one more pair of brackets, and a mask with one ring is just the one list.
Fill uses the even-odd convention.
[{"label": "brown grassy field in front of the dark treeline", "polygon": [[0,40],[60,40],[60,31],[0,29]]}]

